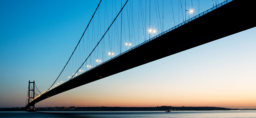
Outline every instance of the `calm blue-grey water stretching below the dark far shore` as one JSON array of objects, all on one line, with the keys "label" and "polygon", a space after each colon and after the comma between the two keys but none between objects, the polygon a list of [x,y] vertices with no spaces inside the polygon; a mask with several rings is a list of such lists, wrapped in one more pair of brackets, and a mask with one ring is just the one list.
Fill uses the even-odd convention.
[{"label": "calm blue-grey water stretching below the dark far shore", "polygon": [[0,112],[0,118],[256,118],[256,111]]}]

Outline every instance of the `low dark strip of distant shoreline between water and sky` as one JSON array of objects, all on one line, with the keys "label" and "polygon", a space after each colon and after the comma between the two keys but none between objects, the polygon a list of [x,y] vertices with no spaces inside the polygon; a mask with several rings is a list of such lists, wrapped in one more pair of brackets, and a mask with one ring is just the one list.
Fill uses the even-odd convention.
[{"label": "low dark strip of distant shoreline between water and sky", "polygon": [[[36,108],[36,111],[216,111],[216,110],[256,110],[256,109],[230,109],[221,107],[45,107]],[[24,111],[24,107],[0,108],[0,111]]]}]

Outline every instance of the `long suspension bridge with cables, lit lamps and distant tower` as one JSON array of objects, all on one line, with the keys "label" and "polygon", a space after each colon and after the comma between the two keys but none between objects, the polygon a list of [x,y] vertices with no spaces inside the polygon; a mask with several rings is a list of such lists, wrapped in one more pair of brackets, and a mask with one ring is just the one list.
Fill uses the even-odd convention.
[{"label": "long suspension bridge with cables, lit lamps and distant tower", "polygon": [[[178,25],[175,25],[173,1],[170,0],[172,12],[165,13],[164,1],[127,0],[121,1],[118,8],[112,2],[112,8],[108,8],[111,5],[106,1],[100,7],[103,4],[100,0],[75,50],[50,88],[40,92],[35,89],[35,81],[29,81],[25,110],[35,110],[37,102],[56,94],[256,26],[252,19],[256,1],[227,0],[217,4],[217,0],[212,0],[212,8],[203,12],[198,1],[196,14],[195,2],[191,0],[186,8],[188,0],[187,3],[178,0]],[[161,3],[162,10],[159,10]],[[110,14],[108,9],[112,9]],[[156,11],[151,13],[150,9]],[[164,16],[171,15],[171,19],[164,20]],[[166,22],[173,22],[174,26],[164,30]]]}]

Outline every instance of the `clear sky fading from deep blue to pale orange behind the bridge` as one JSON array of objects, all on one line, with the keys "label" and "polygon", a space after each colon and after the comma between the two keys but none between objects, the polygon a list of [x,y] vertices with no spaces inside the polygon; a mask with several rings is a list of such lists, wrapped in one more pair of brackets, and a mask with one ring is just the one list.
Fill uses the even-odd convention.
[{"label": "clear sky fading from deep blue to pale orange behind the bridge", "polygon": [[[41,91],[51,86],[98,2],[0,1],[0,108],[24,107],[29,80],[35,80]],[[212,0],[200,2],[200,12],[212,7]],[[198,0],[193,4],[198,6]],[[173,22],[166,22],[165,30]],[[252,28],[63,92],[35,107],[255,109],[255,60],[256,28]]]}]

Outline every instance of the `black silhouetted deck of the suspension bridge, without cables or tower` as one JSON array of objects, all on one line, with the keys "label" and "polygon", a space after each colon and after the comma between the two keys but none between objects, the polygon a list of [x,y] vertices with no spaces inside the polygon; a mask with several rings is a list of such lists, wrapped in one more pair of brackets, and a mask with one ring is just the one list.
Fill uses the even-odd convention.
[{"label": "black silhouetted deck of the suspension bridge, without cables or tower", "polygon": [[[235,0],[59,85],[26,107],[116,73],[253,28],[255,0]],[[216,47],[217,48],[217,47]],[[124,63],[125,62],[125,63]]]}]

